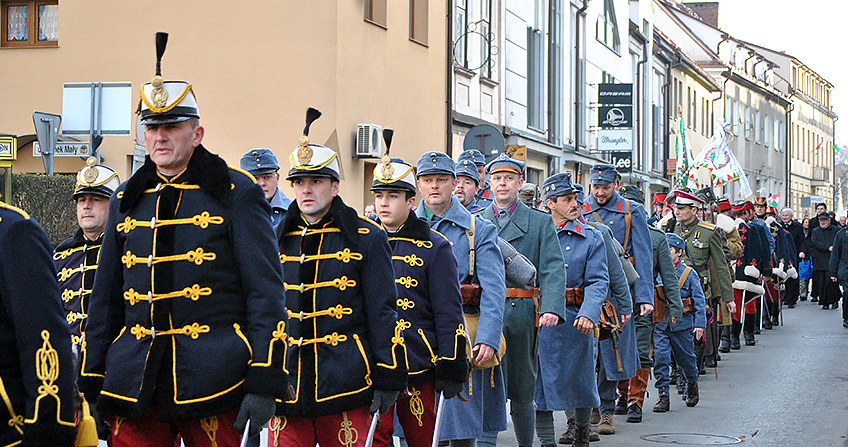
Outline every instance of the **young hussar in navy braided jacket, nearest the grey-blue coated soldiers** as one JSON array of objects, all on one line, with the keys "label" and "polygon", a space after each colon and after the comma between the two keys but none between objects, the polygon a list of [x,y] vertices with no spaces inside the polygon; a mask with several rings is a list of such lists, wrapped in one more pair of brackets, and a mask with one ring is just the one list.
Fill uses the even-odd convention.
[{"label": "young hussar in navy braided jacket, nearest the grey-blue coated soldiers", "polygon": [[439,394],[451,399],[468,380],[465,328],[450,242],[412,212],[415,174],[402,159],[389,158],[391,132],[383,130],[386,155],[374,167],[371,193],[392,247],[409,376],[408,393],[381,416],[374,445],[392,445],[396,412],[407,444],[429,447]]}]

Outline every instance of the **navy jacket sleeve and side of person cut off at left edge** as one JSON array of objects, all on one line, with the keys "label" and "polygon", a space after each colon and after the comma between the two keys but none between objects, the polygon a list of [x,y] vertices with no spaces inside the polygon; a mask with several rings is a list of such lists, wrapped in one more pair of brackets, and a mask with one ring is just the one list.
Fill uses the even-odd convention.
[{"label": "navy jacket sleeve and side of person cut off at left edge", "polygon": [[76,372],[50,243],[3,202],[0,303],[0,445],[74,445]]}]

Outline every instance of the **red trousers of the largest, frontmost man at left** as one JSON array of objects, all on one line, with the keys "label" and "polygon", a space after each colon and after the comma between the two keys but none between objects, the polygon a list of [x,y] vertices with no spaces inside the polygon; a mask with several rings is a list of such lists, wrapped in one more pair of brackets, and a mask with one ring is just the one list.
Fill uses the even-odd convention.
[{"label": "red trousers of the largest, frontmost man at left", "polygon": [[155,408],[139,420],[106,416],[112,426],[111,447],[170,447],[182,436],[187,447],[238,447],[241,433],[233,423],[238,408],[196,421],[162,422]]}]

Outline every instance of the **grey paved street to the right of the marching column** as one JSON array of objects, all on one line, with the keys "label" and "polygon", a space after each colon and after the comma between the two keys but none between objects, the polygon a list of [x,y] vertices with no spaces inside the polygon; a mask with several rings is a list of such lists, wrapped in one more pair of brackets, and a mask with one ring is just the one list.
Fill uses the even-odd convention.
[{"label": "grey paved street to the right of the marching column", "polygon": [[[718,380],[707,369],[697,407],[687,408],[674,394],[669,413],[651,412],[652,381],[642,423],[616,416],[616,434],[593,445],[658,446],[663,444],[642,437],[704,433],[744,436],[743,445],[752,446],[848,446],[848,329],[841,315],[841,309],[825,311],[809,301],[784,309],[784,326],[764,330],[757,346],[723,355]],[[558,432],[565,429],[561,412],[556,424]],[[511,426],[498,441],[517,445]]]}]

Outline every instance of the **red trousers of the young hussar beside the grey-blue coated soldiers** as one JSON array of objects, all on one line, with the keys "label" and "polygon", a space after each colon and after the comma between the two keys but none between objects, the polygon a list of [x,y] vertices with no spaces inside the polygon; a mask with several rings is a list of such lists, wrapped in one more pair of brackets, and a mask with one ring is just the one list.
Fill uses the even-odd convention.
[{"label": "red trousers of the young hussar beside the grey-blue coated soldiers", "polygon": [[433,431],[436,429],[436,389],[433,380],[421,386],[409,389],[411,395],[398,398],[388,413],[380,416],[380,425],[374,434],[374,446],[387,447],[392,444],[395,430],[394,412],[403,427],[403,436],[409,447],[430,447],[433,445]]}]

